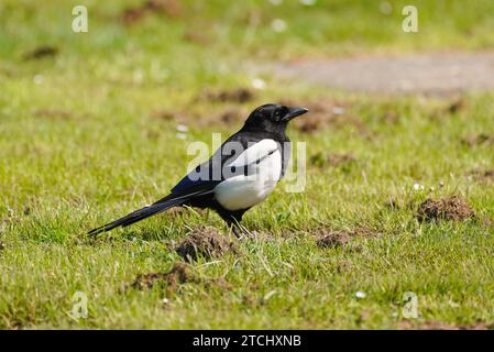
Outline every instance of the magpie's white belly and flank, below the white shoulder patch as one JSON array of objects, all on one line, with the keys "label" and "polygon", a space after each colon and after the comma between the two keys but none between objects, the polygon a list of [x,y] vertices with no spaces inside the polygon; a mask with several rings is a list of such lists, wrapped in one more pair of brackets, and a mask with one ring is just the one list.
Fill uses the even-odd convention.
[{"label": "magpie's white belly and flank, below the white shoulder patch", "polygon": [[282,155],[277,150],[256,165],[254,174],[233,176],[216,186],[215,197],[228,210],[251,208],[273,191],[281,175]]}]

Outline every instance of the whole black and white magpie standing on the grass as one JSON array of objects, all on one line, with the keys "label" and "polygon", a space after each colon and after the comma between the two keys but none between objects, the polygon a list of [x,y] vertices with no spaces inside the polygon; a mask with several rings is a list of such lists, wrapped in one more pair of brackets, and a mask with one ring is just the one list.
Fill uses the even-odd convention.
[{"label": "whole black and white magpie standing on the grass", "polygon": [[241,237],[243,213],[263,201],[285,175],[290,142],[288,122],[308,110],[267,103],[256,108],[239,132],[231,135],[209,161],[185,176],[158,201],[90,231],[96,235],[127,227],[173,207],[209,208]]}]

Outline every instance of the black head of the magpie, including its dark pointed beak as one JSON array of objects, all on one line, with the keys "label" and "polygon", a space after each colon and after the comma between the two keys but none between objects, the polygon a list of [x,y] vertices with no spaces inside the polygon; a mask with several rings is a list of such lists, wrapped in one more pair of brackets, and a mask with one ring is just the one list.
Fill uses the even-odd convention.
[{"label": "black head of the magpie, including its dark pointed beak", "polygon": [[285,132],[290,120],[307,111],[309,110],[306,108],[289,108],[278,103],[266,103],[251,112],[243,129],[273,133]]}]

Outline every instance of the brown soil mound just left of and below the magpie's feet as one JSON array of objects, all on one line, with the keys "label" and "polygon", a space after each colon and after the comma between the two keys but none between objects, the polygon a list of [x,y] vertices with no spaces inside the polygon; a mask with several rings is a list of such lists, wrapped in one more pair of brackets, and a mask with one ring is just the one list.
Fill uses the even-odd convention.
[{"label": "brown soil mound just left of and below the magpie's feet", "polygon": [[197,261],[199,256],[218,257],[227,252],[238,253],[235,242],[212,228],[198,228],[176,249],[178,255],[187,261]]}]

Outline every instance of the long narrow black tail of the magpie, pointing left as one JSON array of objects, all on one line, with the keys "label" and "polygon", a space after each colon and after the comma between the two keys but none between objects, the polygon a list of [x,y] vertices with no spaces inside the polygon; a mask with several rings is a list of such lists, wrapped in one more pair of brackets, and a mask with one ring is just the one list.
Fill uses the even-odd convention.
[{"label": "long narrow black tail of the magpie, pointing left", "polygon": [[118,227],[128,227],[134,222],[144,220],[145,218],[152,217],[152,216],[154,216],[158,212],[165,211],[166,209],[169,209],[172,207],[182,206],[187,200],[188,200],[188,198],[184,198],[184,197],[173,198],[173,199],[168,199],[168,200],[166,200],[166,199],[160,200],[158,202],[155,202],[151,206],[135,210],[123,218],[120,218],[120,219],[114,220],[110,223],[107,223],[100,228],[91,230],[88,232],[88,234],[97,235],[98,233],[110,231]]}]

